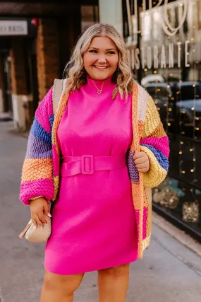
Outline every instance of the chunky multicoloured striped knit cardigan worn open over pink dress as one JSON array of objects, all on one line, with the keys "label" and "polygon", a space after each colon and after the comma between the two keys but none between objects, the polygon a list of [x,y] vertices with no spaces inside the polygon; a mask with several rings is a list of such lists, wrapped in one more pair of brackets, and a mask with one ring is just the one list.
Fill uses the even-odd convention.
[{"label": "chunky multicoloured striped knit cardigan worn open over pink dress", "polygon": [[[40,195],[54,202],[58,195],[61,156],[56,132],[68,103],[68,93],[64,88],[54,117],[52,92],[53,88],[37,108],[30,129],[20,185],[20,200],[24,204],[30,204],[29,199]],[[151,188],[159,185],[166,177],[169,140],[154,101],[137,83],[133,83],[132,125],[133,141],[128,153],[128,172],[138,229],[138,257],[142,259],[143,250],[149,245],[151,236]],[[147,153],[150,160],[147,173],[138,173],[135,166],[133,155],[138,151]]]}]

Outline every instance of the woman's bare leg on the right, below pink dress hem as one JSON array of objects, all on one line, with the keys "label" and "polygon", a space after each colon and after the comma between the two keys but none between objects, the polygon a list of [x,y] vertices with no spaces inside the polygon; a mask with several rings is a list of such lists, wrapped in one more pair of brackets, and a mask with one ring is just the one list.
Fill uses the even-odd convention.
[{"label": "woman's bare leg on the right, below pink dress hem", "polygon": [[128,290],[129,267],[120,265],[98,271],[99,302],[124,302]]}]

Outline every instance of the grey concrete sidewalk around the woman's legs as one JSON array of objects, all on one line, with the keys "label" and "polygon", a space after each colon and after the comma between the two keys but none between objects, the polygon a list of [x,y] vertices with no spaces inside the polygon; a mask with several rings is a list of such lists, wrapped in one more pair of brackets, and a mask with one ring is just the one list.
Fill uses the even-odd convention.
[{"label": "grey concrete sidewalk around the woman's legs", "polygon": [[[0,302],[38,302],[44,245],[18,239],[30,216],[18,199],[27,140],[12,129],[12,122],[0,122]],[[153,213],[152,240],[143,260],[130,265],[126,302],[200,301],[201,257],[159,228],[157,217]],[[98,301],[97,272],[85,274],[74,301]]]}]

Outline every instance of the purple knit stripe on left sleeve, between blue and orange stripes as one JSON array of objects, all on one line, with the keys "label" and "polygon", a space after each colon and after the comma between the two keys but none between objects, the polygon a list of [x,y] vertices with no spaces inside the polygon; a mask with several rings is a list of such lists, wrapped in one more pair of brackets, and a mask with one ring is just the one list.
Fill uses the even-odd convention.
[{"label": "purple knit stripe on left sleeve, between blue and orange stripes", "polygon": [[26,158],[52,158],[51,145],[30,133]]}]

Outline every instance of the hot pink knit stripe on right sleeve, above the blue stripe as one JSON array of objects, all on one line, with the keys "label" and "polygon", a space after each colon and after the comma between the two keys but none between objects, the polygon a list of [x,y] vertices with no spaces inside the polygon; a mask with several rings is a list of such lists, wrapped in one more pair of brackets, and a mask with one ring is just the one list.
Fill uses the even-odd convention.
[{"label": "hot pink knit stripe on right sleeve, above the blue stripe", "polygon": [[140,139],[140,144],[151,145],[155,149],[161,151],[166,158],[169,158],[169,139],[168,137],[146,137]]}]

